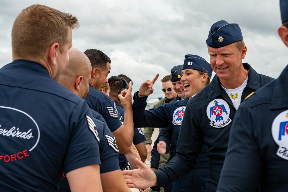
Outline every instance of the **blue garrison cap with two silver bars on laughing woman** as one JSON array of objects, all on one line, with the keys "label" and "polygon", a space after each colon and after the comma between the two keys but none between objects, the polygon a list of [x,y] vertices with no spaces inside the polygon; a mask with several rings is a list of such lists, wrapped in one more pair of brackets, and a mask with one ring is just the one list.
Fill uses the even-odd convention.
[{"label": "blue garrison cap with two silver bars on laughing woman", "polygon": [[203,73],[207,73],[210,78],[213,71],[210,63],[198,55],[185,55],[182,70],[184,69],[195,69],[202,71]]}]

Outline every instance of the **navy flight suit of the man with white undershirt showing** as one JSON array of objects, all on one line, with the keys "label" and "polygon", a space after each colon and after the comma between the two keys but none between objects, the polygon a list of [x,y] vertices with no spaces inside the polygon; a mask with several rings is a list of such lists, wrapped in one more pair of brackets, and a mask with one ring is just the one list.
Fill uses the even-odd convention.
[{"label": "navy flight suit of the man with white undershirt showing", "polygon": [[[249,70],[249,73],[241,101],[273,79],[258,74],[247,63],[243,63],[243,67]],[[209,158],[207,191],[216,191],[235,113],[236,109],[231,99],[215,75],[209,85],[187,102],[177,143],[177,154],[164,168],[155,171],[156,188],[168,185],[194,170],[202,146],[206,144]]]}]

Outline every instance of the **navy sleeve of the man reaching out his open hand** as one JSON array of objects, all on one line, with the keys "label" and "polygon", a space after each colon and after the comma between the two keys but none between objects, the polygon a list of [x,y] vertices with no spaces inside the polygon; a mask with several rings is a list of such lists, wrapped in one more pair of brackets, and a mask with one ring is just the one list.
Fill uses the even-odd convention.
[{"label": "navy sleeve of the man reaching out his open hand", "polygon": [[177,142],[177,154],[164,168],[154,171],[157,176],[155,188],[166,187],[194,170],[203,144],[203,132],[194,116],[192,104],[188,102]]}]

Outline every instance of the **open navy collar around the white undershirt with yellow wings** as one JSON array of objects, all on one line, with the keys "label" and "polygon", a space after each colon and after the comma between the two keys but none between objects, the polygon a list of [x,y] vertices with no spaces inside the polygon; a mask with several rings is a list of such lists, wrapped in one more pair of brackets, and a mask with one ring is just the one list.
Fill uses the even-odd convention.
[{"label": "open navy collar around the white undershirt with yellow wings", "polygon": [[[248,64],[242,63],[244,69],[249,70],[248,73],[248,82],[246,87],[249,87],[253,90],[258,90],[260,88],[259,76],[258,73]],[[221,87],[219,78],[217,75],[213,77],[213,80],[210,83],[209,91],[208,91],[208,101],[215,99],[220,95],[224,95],[226,97],[227,93]],[[244,98],[243,98],[244,99]]]}]

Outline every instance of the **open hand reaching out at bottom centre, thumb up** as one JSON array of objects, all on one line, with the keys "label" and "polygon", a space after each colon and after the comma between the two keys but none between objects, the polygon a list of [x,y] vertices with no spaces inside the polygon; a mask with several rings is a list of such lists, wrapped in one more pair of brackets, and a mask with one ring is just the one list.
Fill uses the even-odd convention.
[{"label": "open hand reaching out at bottom centre, thumb up", "polygon": [[141,168],[122,171],[128,187],[146,189],[152,186],[156,186],[156,174],[141,160],[136,158],[135,161]]}]

